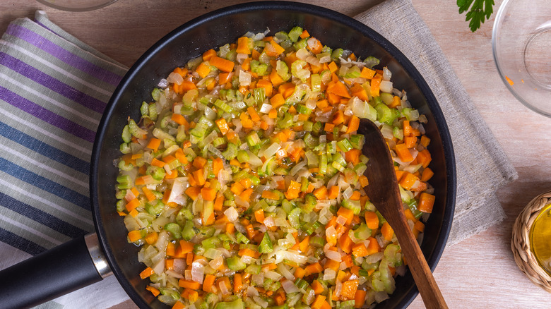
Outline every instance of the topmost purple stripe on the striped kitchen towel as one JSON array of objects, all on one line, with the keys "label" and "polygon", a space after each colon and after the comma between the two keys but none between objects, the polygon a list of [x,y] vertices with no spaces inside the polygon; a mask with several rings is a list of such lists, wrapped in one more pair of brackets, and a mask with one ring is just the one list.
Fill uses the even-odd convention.
[{"label": "topmost purple stripe on the striped kitchen towel", "polygon": [[27,28],[23,28],[20,25],[14,25],[12,23],[8,26],[6,33],[13,35],[14,37],[18,37],[21,40],[25,40],[29,44],[42,49],[64,63],[67,63],[74,68],[78,68],[79,70],[88,73],[97,79],[103,80],[105,83],[109,83],[109,85],[119,85],[121,76],[107,71],[104,68],[100,68],[90,61],[86,61],[76,54],[66,51],[57,44],[54,44],[54,42],[47,40],[45,37],[42,37]]}]

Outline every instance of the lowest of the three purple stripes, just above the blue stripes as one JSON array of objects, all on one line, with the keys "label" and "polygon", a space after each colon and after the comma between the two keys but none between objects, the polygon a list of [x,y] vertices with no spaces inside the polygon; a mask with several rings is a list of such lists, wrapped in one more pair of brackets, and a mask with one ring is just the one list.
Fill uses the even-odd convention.
[{"label": "lowest of the three purple stripes, just above the blue stripes", "polygon": [[61,130],[66,131],[67,133],[71,133],[72,135],[75,135],[78,138],[82,138],[83,140],[86,140],[90,143],[94,143],[94,131],[91,131],[88,128],[84,128],[83,126],[78,125],[77,123],[70,121],[69,119],[61,117],[58,114],[55,114],[54,112],[45,109],[44,107],[40,107],[34,102],[25,99],[24,97],[21,97],[15,92],[11,92],[10,90],[2,86],[0,86],[0,99],[8,102],[13,107],[17,107],[18,109],[26,111],[28,114],[31,114],[32,116],[35,116],[42,121],[46,121],[52,126],[60,128]]}]

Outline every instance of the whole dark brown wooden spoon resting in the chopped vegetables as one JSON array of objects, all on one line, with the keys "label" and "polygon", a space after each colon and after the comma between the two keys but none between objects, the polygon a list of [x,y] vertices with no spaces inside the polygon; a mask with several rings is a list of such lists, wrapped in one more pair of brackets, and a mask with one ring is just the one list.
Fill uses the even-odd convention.
[{"label": "whole dark brown wooden spoon resting in the chopped vegetables", "polygon": [[427,260],[425,260],[407,219],[405,219],[392,157],[381,131],[372,121],[362,119],[357,132],[365,135],[362,153],[369,158],[367,170],[364,173],[369,185],[364,189],[369,200],[373,202],[394,230],[425,306],[427,308],[448,308],[434,277],[432,277]]}]

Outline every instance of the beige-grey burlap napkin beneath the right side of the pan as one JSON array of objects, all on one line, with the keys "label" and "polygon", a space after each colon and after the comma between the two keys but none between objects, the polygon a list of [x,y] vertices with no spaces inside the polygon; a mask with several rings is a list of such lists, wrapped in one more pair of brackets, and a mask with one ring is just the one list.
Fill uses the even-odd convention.
[{"label": "beige-grey burlap napkin beneath the right side of the pan", "polygon": [[408,57],[444,112],[457,169],[456,210],[448,246],[501,222],[505,214],[494,193],[518,175],[411,0],[386,0],[355,19]]}]

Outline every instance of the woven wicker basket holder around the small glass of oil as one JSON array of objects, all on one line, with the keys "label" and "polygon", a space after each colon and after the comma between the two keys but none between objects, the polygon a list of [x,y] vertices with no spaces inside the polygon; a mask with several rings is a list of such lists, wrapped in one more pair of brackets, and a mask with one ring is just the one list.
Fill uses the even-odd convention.
[{"label": "woven wicker basket holder around the small glass of oil", "polygon": [[540,267],[530,248],[530,229],[540,210],[551,202],[551,191],[535,197],[516,218],[511,250],[516,265],[526,276],[545,291],[551,292],[551,276]]}]

